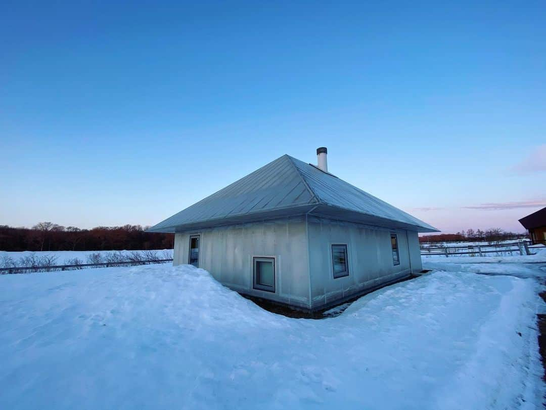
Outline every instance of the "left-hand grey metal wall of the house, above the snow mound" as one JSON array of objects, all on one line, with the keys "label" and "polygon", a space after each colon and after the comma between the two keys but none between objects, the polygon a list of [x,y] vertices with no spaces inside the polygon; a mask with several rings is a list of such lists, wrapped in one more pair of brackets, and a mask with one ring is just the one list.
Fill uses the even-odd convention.
[{"label": "left-hand grey metal wall of the house, above the snow mound", "polygon": [[[221,226],[176,233],[174,264],[187,263],[189,236],[201,235],[199,267],[241,293],[309,308],[305,218]],[[276,258],[276,292],[252,287],[252,257]]]}]

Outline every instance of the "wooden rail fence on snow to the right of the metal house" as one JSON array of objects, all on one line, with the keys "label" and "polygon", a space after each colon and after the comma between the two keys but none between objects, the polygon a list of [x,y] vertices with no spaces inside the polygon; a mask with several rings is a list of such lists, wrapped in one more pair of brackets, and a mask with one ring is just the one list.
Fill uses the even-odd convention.
[{"label": "wooden rail fence on snow to the right of the metal house", "polygon": [[[490,249],[493,248],[493,249]],[[518,241],[512,243],[498,243],[498,244],[479,244],[479,245],[461,245],[454,247],[440,247],[437,245],[424,246],[421,245],[421,255],[442,255],[442,256],[456,256],[456,255],[469,255],[469,256],[488,256],[488,254],[497,255],[513,255],[519,253],[520,255],[532,255],[531,252],[536,248],[544,248],[542,245],[529,245],[526,241]]]}]

